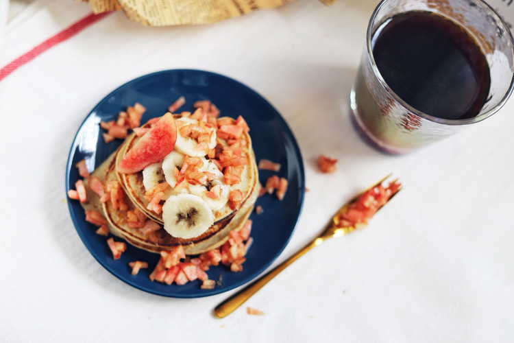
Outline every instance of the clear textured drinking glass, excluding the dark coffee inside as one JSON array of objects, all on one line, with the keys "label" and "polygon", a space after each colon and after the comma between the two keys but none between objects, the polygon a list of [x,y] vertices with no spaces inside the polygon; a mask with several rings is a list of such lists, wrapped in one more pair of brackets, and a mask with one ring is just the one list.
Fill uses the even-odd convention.
[{"label": "clear textured drinking glass, excluding the dark coffee inside", "polygon": [[[376,32],[393,16],[428,11],[463,27],[476,40],[489,64],[487,100],[476,116],[442,119],[408,105],[391,90],[374,58]],[[350,93],[350,117],[361,137],[382,152],[404,154],[439,141],[491,117],[506,102],[514,85],[513,38],[502,18],[481,0],[383,0],[375,9],[366,46]]]}]

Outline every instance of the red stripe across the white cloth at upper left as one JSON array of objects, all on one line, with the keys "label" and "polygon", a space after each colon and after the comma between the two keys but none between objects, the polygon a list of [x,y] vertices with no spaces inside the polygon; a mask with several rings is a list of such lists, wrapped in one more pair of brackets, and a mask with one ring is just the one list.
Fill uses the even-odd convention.
[{"label": "red stripe across the white cloth at upper left", "polygon": [[25,54],[19,56],[19,58],[16,58],[9,64],[7,64],[5,67],[0,69],[0,81],[3,80],[7,75],[21,67],[23,64],[30,62],[34,58],[36,58],[38,55],[42,54],[43,52],[47,51],[54,45],[57,45],[64,40],[71,38],[72,36],[75,36],[75,34],[78,34],[83,29],[88,27],[89,25],[96,23],[100,19],[102,19],[104,16],[110,14],[112,12],[103,12],[100,14],[88,14],[87,16],[84,16],[84,18],[80,19],[79,21],[73,23],[66,29],[63,29],[61,32],[56,34],[55,36],[52,36],[42,42],[40,45],[34,47],[32,50],[26,52]]}]

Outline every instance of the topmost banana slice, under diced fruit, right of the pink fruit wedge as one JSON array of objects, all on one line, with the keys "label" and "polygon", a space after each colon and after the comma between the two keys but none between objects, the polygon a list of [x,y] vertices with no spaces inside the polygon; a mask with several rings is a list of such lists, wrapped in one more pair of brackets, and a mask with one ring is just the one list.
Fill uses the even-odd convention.
[{"label": "topmost banana slice, under diced fruit, right of the pink fruit wedge", "polygon": [[[216,144],[216,130],[214,128],[209,128],[207,126],[199,126],[199,121],[196,119],[181,117],[175,119],[175,123],[177,125],[177,141],[175,142],[175,150],[178,152],[182,152],[182,154],[186,154],[189,156],[206,156],[208,150],[213,149]],[[199,141],[193,138],[192,134],[187,134],[184,136],[184,132],[188,132],[188,128],[191,128],[191,132],[195,132],[195,130],[201,130],[201,132],[208,132],[209,139],[206,141],[206,145],[199,143]],[[198,132],[196,132],[198,134]]]}]

